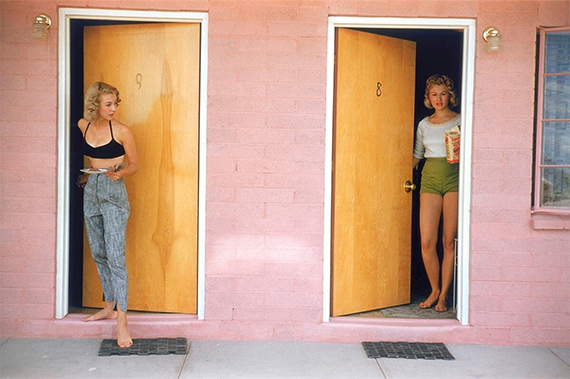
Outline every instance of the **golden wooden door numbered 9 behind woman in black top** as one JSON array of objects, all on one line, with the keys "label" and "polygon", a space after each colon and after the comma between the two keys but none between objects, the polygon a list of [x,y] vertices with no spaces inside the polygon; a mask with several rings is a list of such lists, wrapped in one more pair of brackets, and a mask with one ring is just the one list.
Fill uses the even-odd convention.
[{"label": "golden wooden door numbered 9 behind woman in black top", "polygon": [[[94,26],[84,36],[85,88],[119,89],[115,117],[137,145],[139,171],[125,180],[129,309],[196,313],[200,25]],[[100,307],[84,245],[83,305]]]}]

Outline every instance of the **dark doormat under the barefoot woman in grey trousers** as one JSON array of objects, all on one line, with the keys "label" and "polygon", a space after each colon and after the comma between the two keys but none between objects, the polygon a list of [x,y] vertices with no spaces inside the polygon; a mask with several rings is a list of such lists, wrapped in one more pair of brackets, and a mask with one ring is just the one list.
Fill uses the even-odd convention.
[{"label": "dark doormat under the barefoot woman in grey trousers", "polygon": [[119,347],[117,340],[103,340],[99,356],[111,355],[184,355],[188,351],[186,338],[134,338],[131,347]]}]

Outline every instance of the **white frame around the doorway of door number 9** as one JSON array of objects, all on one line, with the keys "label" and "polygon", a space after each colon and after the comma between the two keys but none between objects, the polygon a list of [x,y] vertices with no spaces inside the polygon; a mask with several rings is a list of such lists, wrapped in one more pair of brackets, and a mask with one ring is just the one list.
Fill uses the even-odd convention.
[{"label": "white frame around the doorway of door number 9", "polygon": [[70,21],[110,20],[200,23],[200,105],[198,174],[198,319],[204,319],[205,235],[206,235],[206,105],[208,70],[208,14],[193,12],[128,11],[107,9],[59,9],[58,57],[58,161],[57,161],[57,252],[55,315],[61,319],[69,312],[69,159],[70,128]]}]

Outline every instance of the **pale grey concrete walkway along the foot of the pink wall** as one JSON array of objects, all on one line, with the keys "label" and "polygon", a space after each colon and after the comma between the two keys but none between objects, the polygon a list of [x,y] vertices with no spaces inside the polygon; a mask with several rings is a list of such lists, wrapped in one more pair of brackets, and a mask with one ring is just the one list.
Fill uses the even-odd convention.
[{"label": "pale grey concrete walkway along the foot of the pink wall", "polygon": [[188,341],[186,355],[97,355],[100,339],[0,339],[0,378],[570,378],[570,348],[447,345],[453,361],[360,344]]}]

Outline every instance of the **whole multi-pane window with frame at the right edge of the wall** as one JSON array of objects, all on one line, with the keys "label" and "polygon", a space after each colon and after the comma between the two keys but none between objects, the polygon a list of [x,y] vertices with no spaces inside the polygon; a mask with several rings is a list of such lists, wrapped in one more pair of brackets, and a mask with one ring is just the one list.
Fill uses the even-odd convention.
[{"label": "whole multi-pane window with frame at the right edge of the wall", "polygon": [[540,30],[534,211],[570,212],[570,27]]}]

